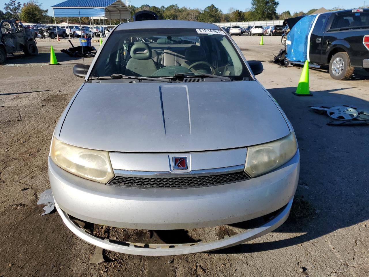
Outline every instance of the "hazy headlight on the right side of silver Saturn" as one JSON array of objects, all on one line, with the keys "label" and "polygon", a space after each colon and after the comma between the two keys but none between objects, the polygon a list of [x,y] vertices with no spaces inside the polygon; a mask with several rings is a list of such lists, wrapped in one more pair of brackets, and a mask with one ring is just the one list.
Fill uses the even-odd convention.
[{"label": "hazy headlight on the right side of silver Saturn", "polygon": [[279,140],[247,147],[245,172],[251,177],[262,175],[287,163],[296,152],[294,133]]}]

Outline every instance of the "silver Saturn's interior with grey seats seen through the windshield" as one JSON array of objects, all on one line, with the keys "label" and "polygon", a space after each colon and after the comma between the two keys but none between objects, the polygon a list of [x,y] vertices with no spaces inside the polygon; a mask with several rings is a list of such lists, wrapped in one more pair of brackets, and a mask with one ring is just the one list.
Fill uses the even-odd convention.
[{"label": "silver Saturn's interior with grey seats seen through the windshield", "polygon": [[[243,66],[224,36],[128,37],[116,42],[104,68],[96,66],[93,75],[173,76],[177,73],[240,75]],[[228,49],[226,49],[228,48]],[[232,51],[230,51],[232,50]],[[231,53],[231,54],[230,54]]]}]

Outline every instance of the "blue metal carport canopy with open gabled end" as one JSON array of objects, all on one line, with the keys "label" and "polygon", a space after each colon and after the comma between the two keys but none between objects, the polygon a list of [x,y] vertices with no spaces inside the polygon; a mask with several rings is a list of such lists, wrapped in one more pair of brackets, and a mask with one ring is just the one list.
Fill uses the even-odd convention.
[{"label": "blue metal carport canopy with open gabled end", "polygon": [[67,0],[51,6],[57,17],[127,19],[131,11],[121,0]]}]

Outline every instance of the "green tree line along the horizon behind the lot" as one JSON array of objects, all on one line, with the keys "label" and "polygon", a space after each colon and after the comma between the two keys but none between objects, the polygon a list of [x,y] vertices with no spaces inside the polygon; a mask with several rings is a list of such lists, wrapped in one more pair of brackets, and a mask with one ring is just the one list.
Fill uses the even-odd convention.
[{"label": "green tree line along the horizon behind the lot", "polygon": [[[154,11],[159,19],[175,19],[175,20],[190,20],[201,22],[242,22],[242,21],[262,21],[262,20],[284,20],[291,17],[302,16],[305,14],[314,13],[317,9],[311,9],[304,13],[303,11],[290,13],[284,11],[281,14],[276,12],[279,2],[276,0],[252,0],[251,8],[245,11],[230,8],[227,13],[223,13],[214,4],[200,10],[199,8],[179,7],[178,5],[170,5],[168,7],[150,6],[148,4],[140,7],[133,5],[131,8],[131,15],[141,10]],[[331,10],[339,10],[340,8],[333,8]],[[29,0],[27,3],[21,4],[16,0],[10,0],[4,5],[5,12],[0,10],[0,19],[15,18],[27,23],[54,23],[54,17],[48,16],[48,10],[42,8],[42,4],[38,0]],[[68,17],[70,24],[90,24],[89,17]],[[56,23],[66,21],[65,17],[56,17]],[[125,22],[128,20],[121,20]],[[119,19],[110,21],[111,24],[118,24]],[[96,20],[94,21],[96,25]],[[99,20],[97,20],[99,24]]]}]

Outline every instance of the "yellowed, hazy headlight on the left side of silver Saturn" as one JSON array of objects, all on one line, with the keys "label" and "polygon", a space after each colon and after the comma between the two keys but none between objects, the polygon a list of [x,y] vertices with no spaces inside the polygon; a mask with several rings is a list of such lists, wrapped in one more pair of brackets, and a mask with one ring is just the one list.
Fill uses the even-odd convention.
[{"label": "yellowed, hazy headlight on the left side of silver Saturn", "polygon": [[106,184],[114,177],[108,151],[72,146],[54,137],[50,157],[63,170],[85,179]]}]

